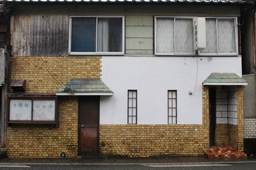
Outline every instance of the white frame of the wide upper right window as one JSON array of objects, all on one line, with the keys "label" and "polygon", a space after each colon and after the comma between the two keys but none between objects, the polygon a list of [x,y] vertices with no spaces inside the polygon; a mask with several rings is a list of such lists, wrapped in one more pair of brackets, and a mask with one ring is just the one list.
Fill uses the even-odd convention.
[{"label": "white frame of the wide upper right window", "polygon": [[[163,52],[157,52],[157,18],[173,18],[174,20],[174,53],[163,53]],[[186,18],[192,18],[193,19],[193,29],[195,29],[195,24],[194,24],[194,20],[197,17],[173,17],[173,16],[155,16],[154,17],[154,53],[155,55],[196,55],[195,51],[193,53],[178,53],[175,52],[175,19],[176,18],[182,18],[182,19],[186,19]],[[217,49],[217,53],[203,53],[203,52],[199,52],[198,55],[204,56],[204,55],[216,55],[216,56],[223,56],[223,55],[229,55],[229,56],[233,56],[233,55],[238,55],[238,32],[237,32],[237,17],[205,17],[205,18],[215,18],[216,19],[216,31],[217,31],[217,48],[218,48],[218,20],[221,19],[234,19],[234,25],[235,25],[235,39],[236,39],[236,52],[234,53],[220,53],[218,52]],[[195,39],[195,30],[193,30],[193,37]],[[193,41],[193,48],[195,49],[195,41]]]}]

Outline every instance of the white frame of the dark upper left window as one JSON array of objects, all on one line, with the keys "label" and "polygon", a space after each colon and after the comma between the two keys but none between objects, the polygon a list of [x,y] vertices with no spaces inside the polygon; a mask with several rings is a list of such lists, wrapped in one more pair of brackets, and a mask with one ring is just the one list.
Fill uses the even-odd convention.
[{"label": "white frame of the dark upper left window", "polygon": [[[96,52],[71,52],[71,32],[72,32],[72,18],[96,18],[96,30],[95,30],[95,50]],[[97,29],[98,29],[98,18],[122,18],[122,52],[97,52]],[[124,16],[70,16],[69,17],[69,34],[68,34],[68,54],[69,55],[124,55]]]}]

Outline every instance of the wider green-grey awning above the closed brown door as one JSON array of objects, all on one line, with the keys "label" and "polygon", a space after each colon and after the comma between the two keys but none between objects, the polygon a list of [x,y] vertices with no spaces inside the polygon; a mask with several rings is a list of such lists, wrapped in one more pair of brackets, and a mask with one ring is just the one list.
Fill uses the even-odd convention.
[{"label": "wider green-grey awning above the closed brown door", "polygon": [[113,96],[100,79],[72,79],[55,93],[57,96]]}]

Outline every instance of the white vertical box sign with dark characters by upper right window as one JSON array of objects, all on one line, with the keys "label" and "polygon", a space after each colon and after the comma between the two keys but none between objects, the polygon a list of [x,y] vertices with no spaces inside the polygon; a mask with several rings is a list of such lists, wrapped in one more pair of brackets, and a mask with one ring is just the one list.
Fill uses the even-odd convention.
[{"label": "white vertical box sign with dark characters by upper right window", "polygon": [[195,50],[203,50],[206,47],[205,18],[198,17],[194,20],[195,25]]}]

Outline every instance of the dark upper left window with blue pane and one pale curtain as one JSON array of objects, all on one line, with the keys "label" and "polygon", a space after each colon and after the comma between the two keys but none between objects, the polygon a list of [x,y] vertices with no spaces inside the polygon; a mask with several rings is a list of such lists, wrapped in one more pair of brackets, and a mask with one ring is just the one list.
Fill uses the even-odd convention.
[{"label": "dark upper left window with blue pane and one pale curtain", "polygon": [[124,54],[124,17],[70,17],[71,55]]}]

